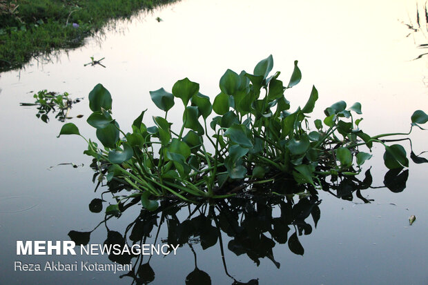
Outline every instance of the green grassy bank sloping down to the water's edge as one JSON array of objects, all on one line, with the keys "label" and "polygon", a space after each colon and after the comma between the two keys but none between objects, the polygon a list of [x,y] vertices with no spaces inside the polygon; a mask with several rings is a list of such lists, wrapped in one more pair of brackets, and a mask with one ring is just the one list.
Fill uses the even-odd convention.
[{"label": "green grassy bank sloping down to the water's edge", "polygon": [[0,72],[32,57],[81,46],[111,19],[174,0],[0,0]]}]

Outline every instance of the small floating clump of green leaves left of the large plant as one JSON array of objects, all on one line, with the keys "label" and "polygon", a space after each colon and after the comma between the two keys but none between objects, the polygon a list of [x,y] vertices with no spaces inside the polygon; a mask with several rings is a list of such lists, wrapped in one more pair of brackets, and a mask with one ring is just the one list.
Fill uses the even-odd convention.
[{"label": "small floating clump of green leaves left of the large plant", "polygon": [[[70,111],[72,104],[78,103],[81,99],[77,98],[72,100],[68,97],[68,92],[63,94],[58,94],[56,92],[48,92],[48,90],[41,90],[33,96],[36,101],[35,103],[20,103],[20,106],[38,106],[36,117],[40,118],[45,123],[48,123],[49,112],[55,113],[58,110],[55,119],[58,121],[64,122],[68,117],[68,112]],[[57,110],[55,110],[57,108]],[[78,115],[77,117],[82,117]]]}]

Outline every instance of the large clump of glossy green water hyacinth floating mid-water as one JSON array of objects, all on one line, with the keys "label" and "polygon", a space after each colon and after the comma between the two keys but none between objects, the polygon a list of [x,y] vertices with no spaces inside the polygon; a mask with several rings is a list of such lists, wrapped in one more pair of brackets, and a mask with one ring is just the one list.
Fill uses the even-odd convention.
[{"label": "large clump of glossy green water hyacinth floating mid-water", "polygon": [[[150,91],[163,115],[153,117],[154,125],[147,126],[142,111],[133,121],[133,132],[127,133],[111,116],[110,93],[98,84],[89,94],[93,113],[87,121],[97,129],[102,146],[84,138],[88,142],[84,153],[94,157],[99,168],[108,167],[107,181],[117,179],[136,190],[124,199],[141,197],[148,210],[157,208],[155,199],[171,194],[185,201],[230,197],[235,193],[228,190],[237,182],[242,184],[241,190],[275,179],[293,179],[320,188],[320,177],[358,175],[360,166],[371,157],[359,148],[370,150],[375,143],[385,147],[387,168],[409,165],[405,149],[399,144],[387,145],[382,138],[409,135],[411,130],[367,135],[358,127],[362,119],[354,118],[361,114],[360,103],[347,108],[344,101],[325,109],[326,117],[315,119],[313,128],[308,119],[318,99],[315,86],[307,104],[293,112],[289,112],[290,102],[284,97],[284,91],[302,77],[298,61],[286,85],[278,79],[280,72],[269,76],[272,68],[273,58],[269,56],[257,63],[253,74],[227,70],[213,103],[199,92],[198,83],[187,78],[177,81],[172,93],[164,88]],[[182,126],[173,130],[168,111],[176,98],[185,109]],[[217,115],[208,120],[212,111]],[[428,115],[418,110],[411,121],[411,128],[425,124]],[[80,132],[75,124],[68,123],[59,135]],[[208,144],[211,153],[206,149]],[[118,211],[119,204],[110,205],[107,212]]]}]

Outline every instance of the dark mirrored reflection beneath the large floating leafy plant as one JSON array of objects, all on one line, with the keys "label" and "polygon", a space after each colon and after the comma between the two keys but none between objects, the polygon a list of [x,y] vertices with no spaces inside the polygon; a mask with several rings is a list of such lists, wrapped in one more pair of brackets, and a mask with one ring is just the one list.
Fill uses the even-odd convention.
[{"label": "dark mirrored reflection beneath the large floating leafy plant", "polygon": [[[94,167],[94,169],[98,169]],[[405,189],[409,170],[389,170],[385,175],[384,184],[392,192]],[[102,184],[102,173],[95,173],[93,180],[97,181],[97,188]],[[371,186],[370,169],[364,173],[361,180],[355,176],[333,176],[322,181],[322,190],[340,199],[353,201],[358,199],[370,203],[362,195],[362,190],[379,188]],[[101,194],[101,199],[93,199],[89,208],[94,213],[103,210],[106,204],[104,195],[113,195],[115,203],[121,200],[121,191],[128,192],[126,186],[113,179],[108,182],[108,190]],[[274,191],[273,191],[274,189]],[[276,193],[275,195],[266,193]],[[122,199],[119,203],[119,217],[128,208],[139,204],[139,197]],[[237,197],[216,200],[215,204],[188,204],[175,197],[163,199],[159,208],[153,211],[142,208],[138,217],[126,226],[124,233],[108,228],[108,220],[115,215],[106,215],[90,232],[71,230],[69,237],[76,244],[86,245],[90,242],[90,234],[99,226],[104,225],[107,231],[105,245],[119,244],[133,246],[146,244],[148,238],[155,237],[153,244],[173,244],[179,247],[189,246],[195,258],[195,268],[186,275],[186,284],[211,284],[211,277],[197,266],[195,244],[200,244],[203,250],[216,246],[220,249],[218,258],[222,259],[224,273],[230,277],[232,284],[258,284],[257,279],[247,283],[238,281],[237,272],[230,272],[227,268],[224,250],[230,250],[235,255],[246,255],[256,266],[260,259],[270,259],[276,268],[281,264],[275,260],[273,247],[275,244],[287,244],[289,250],[296,255],[303,255],[304,248],[299,237],[310,235],[317,227],[321,217],[320,204],[322,200],[318,192],[311,185],[298,185],[292,180],[275,180],[269,184],[257,185],[256,188],[247,188]],[[167,237],[159,237],[162,227],[166,227]],[[228,240],[228,242],[226,242]],[[97,243],[97,242],[95,242]],[[148,284],[155,280],[155,269],[150,266],[153,255],[133,255],[125,253],[114,255],[110,253],[108,259],[119,264],[129,264],[132,261],[133,270],[120,277],[131,277],[132,284]],[[147,259],[148,257],[148,259]],[[242,257],[241,257],[242,258]]]}]

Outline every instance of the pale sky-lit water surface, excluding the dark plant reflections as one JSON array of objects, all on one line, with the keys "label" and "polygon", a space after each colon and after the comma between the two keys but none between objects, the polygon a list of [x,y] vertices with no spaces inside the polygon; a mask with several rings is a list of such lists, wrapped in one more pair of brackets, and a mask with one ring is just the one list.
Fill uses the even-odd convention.
[{"label": "pale sky-lit water surface, excluding the dark plant reflections", "polygon": [[[67,91],[73,99],[85,97],[72,112],[86,116],[73,122],[87,137],[95,137],[85,121],[89,114],[87,95],[96,83],[103,83],[112,93],[114,116],[127,130],[142,109],[149,109],[148,124],[150,116],[158,114],[149,90],[171,90],[177,79],[189,77],[200,83],[204,95],[213,98],[227,68],[251,72],[257,61],[272,54],[273,71],[282,71],[280,79],[284,81],[291,75],[293,61],[299,60],[302,81],[286,92],[292,110],[305,103],[315,84],[320,99],[313,118],[321,117],[325,107],[340,99],[348,104],[360,101],[364,117],[360,126],[369,134],[407,132],[411,113],[428,110],[423,84],[427,61],[411,61],[420,50],[411,37],[406,38],[409,30],[401,23],[414,18],[416,6],[409,2],[181,1],[142,19],[119,23],[123,32],[108,32],[100,42],[89,40],[87,46],[61,55],[58,61],[43,65],[33,61],[26,70],[1,74],[0,198],[34,197],[39,204],[20,213],[0,213],[0,275],[9,276],[9,284],[34,281],[31,274],[12,272],[17,239],[68,239],[70,229],[93,228],[101,219],[101,214],[88,212],[88,203],[98,194],[93,194],[88,157],[82,155],[84,141],[72,136],[57,139],[59,122],[43,124],[34,110],[19,107],[19,102],[32,101],[30,91]],[[164,21],[158,23],[156,17]],[[84,67],[91,56],[106,57],[103,63],[107,68]],[[177,122],[180,108],[170,112]],[[415,130],[411,137],[416,153],[426,150],[426,133]],[[407,143],[404,146],[409,150]],[[387,170],[382,164],[382,148],[375,152],[373,184],[381,185]],[[83,162],[86,167],[48,170],[68,162]],[[272,284],[425,284],[425,173],[426,164],[411,162],[407,189],[398,194],[383,188],[366,191],[364,197],[375,199],[370,205],[321,193],[318,227],[300,239],[304,257],[277,245],[275,258],[282,264],[277,270],[270,260],[262,259],[256,267],[250,259],[226,250],[228,270],[245,282],[259,277],[260,284],[271,280],[275,280]],[[21,206],[31,205],[26,200]],[[137,213],[135,209],[134,217]],[[133,219],[132,213],[128,215]],[[410,215],[416,215],[417,220],[408,227]],[[121,220],[112,224],[124,226]],[[105,234],[95,232],[92,238],[102,243]],[[213,284],[231,283],[222,273],[218,248],[202,252],[195,246],[195,250],[198,266],[211,275]],[[42,260],[28,257],[31,259]],[[193,253],[185,247],[174,259],[157,258],[150,265],[156,273],[155,284],[184,280],[193,270]],[[91,276],[90,281],[76,274],[36,276],[45,279],[44,284],[55,284],[64,276],[70,277],[64,284],[123,281],[108,274]]]}]

